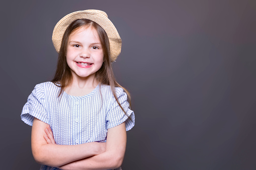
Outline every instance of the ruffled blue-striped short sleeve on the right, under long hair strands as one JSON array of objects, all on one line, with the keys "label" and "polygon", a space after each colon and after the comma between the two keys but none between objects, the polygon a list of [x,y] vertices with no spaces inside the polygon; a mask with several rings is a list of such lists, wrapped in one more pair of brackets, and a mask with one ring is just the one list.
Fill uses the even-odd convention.
[{"label": "ruffled blue-striped short sleeve on the right, under long hair strands", "polygon": [[127,94],[125,91],[120,87],[116,87],[116,94],[118,101],[125,110],[126,114],[120,108],[115,97],[112,95],[110,103],[111,105],[109,107],[110,109],[107,112],[106,117],[107,129],[125,122],[126,131],[128,131],[135,124],[134,112],[129,108],[129,102],[127,101]]}]

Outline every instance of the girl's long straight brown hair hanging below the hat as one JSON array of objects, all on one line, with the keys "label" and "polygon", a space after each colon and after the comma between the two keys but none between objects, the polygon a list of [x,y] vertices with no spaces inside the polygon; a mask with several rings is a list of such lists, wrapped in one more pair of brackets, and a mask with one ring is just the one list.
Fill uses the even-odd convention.
[{"label": "girl's long straight brown hair hanging below the hat", "polygon": [[67,42],[68,42],[69,35],[80,27],[92,27],[97,31],[101,41],[102,48],[103,48],[104,58],[103,58],[103,65],[96,72],[95,78],[101,84],[106,84],[111,87],[111,91],[116,101],[118,102],[123,112],[126,114],[124,108],[121,106],[120,102],[117,99],[115,87],[121,87],[126,92],[128,96],[129,104],[131,107],[130,93],[124,87],[122,87],[115,79],[114,72],[112,69],[111,59],[110,59],[110,46],[109,46],[109,39],[108,39],[107,33],[99,24],[91,20],[79,19],[79,20],[73,21],[67,27],[63,35],[60,50],[59,50],[59,55],[58,55],[57,69],[52,79],[52,82],[56,86],[61,88],[58,97],[60,97],[63,94],[63,91],[65,90],[66,87],[71,85],[73,80],[71,69],[67,65],[67,60],[66,60]]}]

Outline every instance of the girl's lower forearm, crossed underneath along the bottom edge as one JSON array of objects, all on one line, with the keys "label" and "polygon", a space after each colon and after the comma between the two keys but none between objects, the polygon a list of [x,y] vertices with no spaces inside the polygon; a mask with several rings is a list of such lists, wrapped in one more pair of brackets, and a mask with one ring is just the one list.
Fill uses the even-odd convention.
[{"label": "girl's lower forearm, crossed underneath along the bottom edge", "polygon": [[85,159],[73,161],[71,163],[60,166],[59,168],[65,170],[72,169],[114,169],[121,166],[124,154],[119,151],[106,151],[96,156],[88,157]]}]

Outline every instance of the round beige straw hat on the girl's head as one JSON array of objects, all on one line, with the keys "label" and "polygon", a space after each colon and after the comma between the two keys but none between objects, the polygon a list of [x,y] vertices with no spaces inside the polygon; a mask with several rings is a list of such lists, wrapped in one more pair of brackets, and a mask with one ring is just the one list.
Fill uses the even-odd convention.
[{"label": "round beige straw hat on the girl's head", "polygon": [[73,21],[78,19],[88,19],[99,24],[107,33],[110,43],[111,62],[115,61],[121,52],[122,40],[113,23],[108,19],[105,12],[100,10],[84,10],[70,13],[63,17],[54,27],[52,42],[57,52],[59,52],[62,37]]}]

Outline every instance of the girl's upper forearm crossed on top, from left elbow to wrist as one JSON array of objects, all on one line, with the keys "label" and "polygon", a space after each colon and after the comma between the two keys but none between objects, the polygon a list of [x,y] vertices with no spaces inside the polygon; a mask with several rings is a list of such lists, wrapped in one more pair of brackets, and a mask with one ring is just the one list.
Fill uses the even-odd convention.
[{"label": "girl's upper forearm crossed on top, from left elbow to wrist", "polygon": [[32,153],[38,163],[50,166],[60,166],[75,160],[100,153],[97,142],[79,145],[43,144],[33,148]]}]

